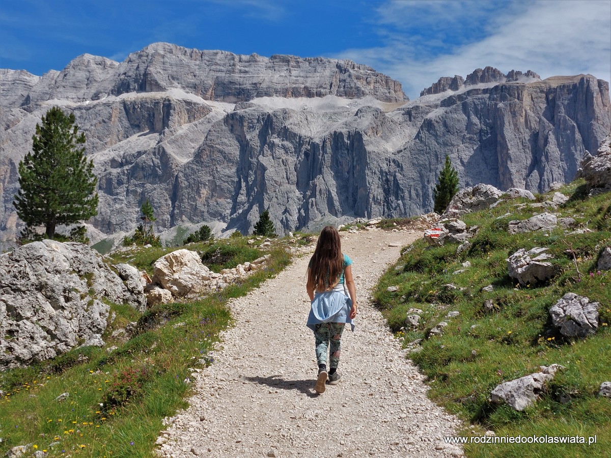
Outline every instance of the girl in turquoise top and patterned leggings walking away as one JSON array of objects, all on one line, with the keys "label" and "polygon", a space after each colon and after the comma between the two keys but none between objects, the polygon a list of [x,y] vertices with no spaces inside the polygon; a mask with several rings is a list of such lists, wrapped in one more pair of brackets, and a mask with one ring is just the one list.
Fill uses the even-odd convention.
[{"label": "girl in turquoise top and patterned leggings walking away", "polygon": [[[307,294],[312,308],[307,327],[313,330],[318,361],[316,393],[324,393],[327,376],[329,385],[337,385],[340,374],[342,332],[346,324],[354,331],[356,289],[352,276],[352,260],[342,253],[340,234],[333,226],[325,227],[307,269]],[[346,292],[347,291],[347,292]],[[329,371],[327,373],[327,350]]]}]

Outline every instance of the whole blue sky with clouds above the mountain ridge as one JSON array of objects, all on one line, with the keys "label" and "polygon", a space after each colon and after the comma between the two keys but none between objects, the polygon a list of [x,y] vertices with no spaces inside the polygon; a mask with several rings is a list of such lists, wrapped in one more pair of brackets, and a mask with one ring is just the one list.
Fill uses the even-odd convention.
[{"label": "whole blue sky with clouds above the mountain ridge", "polygon": [[410,98],[486,65],[611,79],[611,0],[0,0],[0,68],[35,75],[153,42],[352,59]]}]

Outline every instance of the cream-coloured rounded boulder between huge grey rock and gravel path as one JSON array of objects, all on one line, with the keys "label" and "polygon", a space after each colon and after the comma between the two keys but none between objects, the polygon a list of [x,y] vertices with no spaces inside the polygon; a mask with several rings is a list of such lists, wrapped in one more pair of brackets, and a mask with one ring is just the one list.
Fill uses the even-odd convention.
[{"label": "cream-coloured rounded boulder between huge grey rock and gravel path", "polygon": [[194,251],[176,250],[153,264],[153,283],[168,289],[175,297],[200,291],[203,282],[210,279],[210,269],[202,264]]}]

